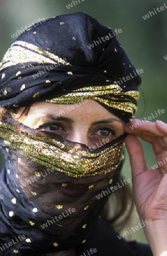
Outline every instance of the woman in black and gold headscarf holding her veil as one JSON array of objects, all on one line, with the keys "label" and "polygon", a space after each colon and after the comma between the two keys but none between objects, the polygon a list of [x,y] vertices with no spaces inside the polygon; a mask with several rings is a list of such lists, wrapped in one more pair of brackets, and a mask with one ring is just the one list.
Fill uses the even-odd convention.
[{"label": "woman in black and gold headscarf holding her veil", "polygon": [[147,170],[136,137],[160,159],[166,125],[130,128],[140,77],[114,31],[83,13],[57,16],[20,35],[0,72],[1,255],[152,255],[148,246],[118,239],[101,218],[126,137],[139,216],[152,221],[145,234],[153,255],[163,253],[166,175]]}]

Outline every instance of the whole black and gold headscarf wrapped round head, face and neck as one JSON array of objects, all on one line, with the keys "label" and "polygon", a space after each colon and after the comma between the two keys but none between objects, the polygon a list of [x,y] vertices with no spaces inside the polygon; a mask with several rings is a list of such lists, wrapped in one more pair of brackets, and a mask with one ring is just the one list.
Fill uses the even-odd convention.
[{"label": "whole black and gold headscarf wrapped round head, face and neck", "polygon": [[[108,33],[113,37],[87,47]],[[34,102],[76,104],[91,98],[123,121],[136,112],[140,77],[118,85],[135,68],[114,31],[84,13],[57,16],[29,28],[11,45],[0,67],[0,106],[5,108]],[[7,159],[1,173],[6,195],[1,203],[1,243],[25,237],[4,253],[37,255],[85,243],[108,199],[97,200],[97,193],[119,176],[125,136],[91,151],[14,119],[1,122]],[[81,193],[62,197],[60,191],[66,186]],[[55,221],[65,213],[68,216]]]}]

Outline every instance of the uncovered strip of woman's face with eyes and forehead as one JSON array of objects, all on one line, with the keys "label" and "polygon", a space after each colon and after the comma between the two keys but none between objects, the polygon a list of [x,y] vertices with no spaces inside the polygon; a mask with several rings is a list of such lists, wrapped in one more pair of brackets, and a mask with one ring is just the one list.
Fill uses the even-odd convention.
[{"label": "uncovered strip of woman's face with eyes and forehead", "polygon": [[88,147],[103,146],[124,133],[124,122],[94,100],[70,105],[37,102],[23,124]]}]

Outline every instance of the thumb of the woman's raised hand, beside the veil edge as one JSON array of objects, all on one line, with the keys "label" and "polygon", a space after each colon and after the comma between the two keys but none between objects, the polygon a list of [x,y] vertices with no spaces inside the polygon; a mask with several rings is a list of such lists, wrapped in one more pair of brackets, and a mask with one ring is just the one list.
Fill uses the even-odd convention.
[{"label": "thumb of the woman's raised hand, beside the veil edge", "polygon": [[147,170],[143,148],[139,140],[131,134],[127,136],[125,143],[130,155],[132,178],[135,179],[136,176]]}]

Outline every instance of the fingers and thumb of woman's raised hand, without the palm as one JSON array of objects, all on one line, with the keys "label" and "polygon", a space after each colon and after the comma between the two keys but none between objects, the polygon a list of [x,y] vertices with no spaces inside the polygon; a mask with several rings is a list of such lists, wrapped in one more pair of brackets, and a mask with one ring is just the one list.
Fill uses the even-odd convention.
[{"label": "fingers and thumb of woman's raised hand, without the palm", "polygon": [[[139,122],[141,121],[141,122]],[[144,159],[143,148],[140,142],[135,139],[140,137],[146,142],[152,144],[158,163],[161,163],[158,168],[162,174],[167,170],[167,125],[161,121],[155,123],[133,119],[129,124],[125,125],[124,129],[128,135],[126,146],[130,154],[131,166],[134,175],[139,175],[147,170],[147,165]],[[133,134],[133,135],[132,135]],[[137,163],[136,163],[137,162]]]}]

